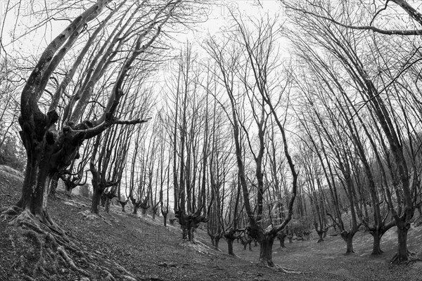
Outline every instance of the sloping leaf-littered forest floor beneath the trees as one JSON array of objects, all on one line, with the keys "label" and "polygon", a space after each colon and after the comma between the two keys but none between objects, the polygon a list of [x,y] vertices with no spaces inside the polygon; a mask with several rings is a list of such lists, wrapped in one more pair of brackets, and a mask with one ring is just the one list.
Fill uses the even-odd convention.
[{"label": "sloping leaf-littered forest floor beneath the trees", "polygon": [[[1,167],[0,167],[1,168]],[[22,178],[13,171],[0,169],[0,209],[18,201]],[[102,209],[101,209],[102,211]],[[129,209],[127,210],[130,211]],[[340,237],[327,237],[316,243],[293,241],[286,248],[274,243],[274,263],[302,272],[286,274],[271,268],[257,266],[259,247],[245,250],[235,242],[236,257],[226,253],[221,240],[220,251],[212,249],[206,231],[198,230],[196,244],[182,242],[181,230],[176,226],[162,225],[162,218],[134,216],[122,213],[112,206],[110,214],[93,216],[89,213],[89,200],[74,195],[72,199],[58,192],[49,200],[49,214],[85,252],[95,253],[90,263],[102,268],[94,277],[79,275],[72,268],[62,267],[53,277],[28,270],[39,260],[37,244],[25,244],[13,239],[18,230],[0,222],[0,280],[422,280],[422,262],[407,265],[390,264],[395,254],[396,233],[390,230],[383,237],[381,256],[371,256],[371,235],[357,233],[354,238],[356,253],[345,255],[345,242]],[[409,230],[409,249],[422,251],[422,227]],[[19,245],[20,244],[20,245]],[[34,249],[32,249],[34,248]],[[71,256],[76,266],[82,259]],[[25,274],[24,274],[25,273]],[[31,276],[30,273],[34,273]],[[28,276],[28,277],[25,277]],[[113,276],[113,277],[111,277]]]}]

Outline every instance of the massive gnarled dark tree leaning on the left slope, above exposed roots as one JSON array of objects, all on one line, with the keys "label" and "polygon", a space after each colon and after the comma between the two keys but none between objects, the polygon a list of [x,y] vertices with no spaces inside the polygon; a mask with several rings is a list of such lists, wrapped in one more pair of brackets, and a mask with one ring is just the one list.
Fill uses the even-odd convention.
[{"label": "massive gnarled dark tree leaning on the left slope, above exposed roots", "polygon": [[[65,58],[69,48],[75,44],[85,25],[97,18],[110,1],[96,1],[94,5],[73,20],[72,23],[70,23],[70,25],[68,25],[68,27],[49,44],[49,46],[47,46],[46,50],[41,55],[41,58],[39,58],[37,66],[34,68],[32,74],[30,74],[20,100],[21,112],[19,122],[22,127],[20,134],[27,150],[27,166],[22,196],[17,203],[18,207],[30,211],[30,213],[37,216],[40,221],[51,224],[52,222],[46,211],[50,178],[59,171],[65,169],[72,162],[72,159],[78,157],[79,146],[82,142],[98,135],[113,124],[136,124],[143,122],[143,120],[140,119],[130,121],[118,120],[113,117],[113,115],[119,104],[120,98],[124,94],[123,86],[129,68],[136,58],[143,53],[146,48],[153,44],[153,41],[155,41],[160,34],[162,25],[167,22],[168,18],[172,15],[172,11],[177,8],[180,2],[181,1],[169,1],[164,6],[151,7],[150,14],[148,15],[151,16],[152,14],[153,20],[148,17],[148,25],[142,27],[140,32],[139,30],[136,31],[137,33],[134,33],[132,30],[125,30],[125,33],[128,32],[128,34],[122,32],[126,35],[128,40],[132,39],[132,47],[127,51],[128,58],[124,65],[121,66],[120,73],[115,79],[115,84],[113,90],[110,91],[110,98],[103,115],[97,120],[84,120],[79,124],[75,124],[75,122],[78,122],[83,117],[84,109],[89,101],[88,98],[91,96],[91,91],[94,89],[93,83],[98,81],[98,79],[93,79],[91,77],[91,79],[86,79],[86,90],[78,97],[78,102],[69,104],[72,105],[69,107],[72,109],[72,114],[68,119],[68,123],[63,126],[62,131],[60,132],[56,130],[55,125],[60,118],[56,112],[58,100],[63,96],[63,88],[67,86],[67,79],[72,78],[70,77],[70,74],[79,66],[79,59],[82,60],[84,58],[85,49],[81,51],[72,70],[70,70],[65,79],[63,79],[63,84],[60,84],[59,90],[56,91],[51,100],[48,112],[42,112],[38,105],[38,101],[44,94],[44,89],[47,86],[52,72],[63,58]],[[136,14],[135,12],[139,11],[141,6],[132,4],[127,7],[124,5],[124,2],[122,2],[122,4],[110,9],[108,15],[103,19],[103,22],[101,22],[101,25],[98,26],[96,30],[103,30],[110,18],[113,18],[113,15],[115,14],[118,15],[117,12],[124,8],[127,8],[128,11],[130,11],[129,8],[135,9],[135,11],[132,10],[132,13]],[[122,19],[124,18],[122,15],[120,15],[120,17]],[[139,18],[137,21],[139,21]],[[129,25],[129,23],[127,25]],[[124,26],[128,27],[127,25]],[[93,37],[94,34],[91,35],[90,39],[94,40],[95,38]],[[91,43],[91,41],[88,41],[85,47],[88,49],[91,46]],[[103,60],[110,60],[113,58],[110,55],[115,50],[113,50],[113,46],[110,46],[110,48],[109,56],[102,57]],[[104,63],[103,67],[106,66],[106,63]],[[101,72],[101,70],[98,71]],[[101,73],[98,73],[97,75],[100,74]]]}]

